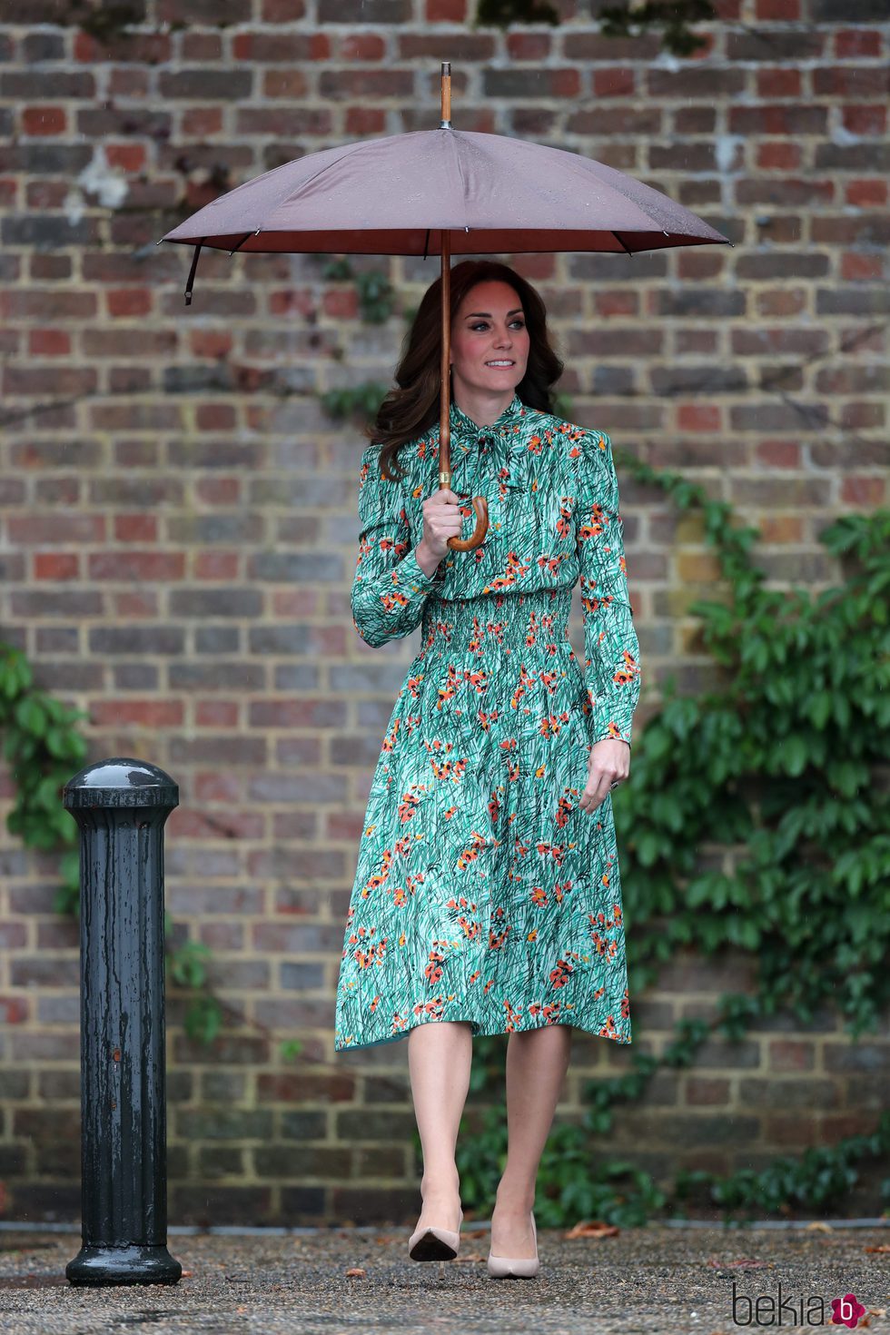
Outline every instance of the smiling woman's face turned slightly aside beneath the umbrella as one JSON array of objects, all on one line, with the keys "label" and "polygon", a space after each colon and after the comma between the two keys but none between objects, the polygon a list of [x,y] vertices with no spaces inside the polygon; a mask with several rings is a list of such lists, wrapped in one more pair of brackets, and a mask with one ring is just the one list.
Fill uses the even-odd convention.
[{"label": "smiling woman's face turned slightly aside beneath the umbrella", "polygon": [[[528,330],[519,294],[490,279],[464,295],[451,326],[451,379],[470,394],[507,395],[526,375]],[[507,366],[492,366],[507,362]]]}]

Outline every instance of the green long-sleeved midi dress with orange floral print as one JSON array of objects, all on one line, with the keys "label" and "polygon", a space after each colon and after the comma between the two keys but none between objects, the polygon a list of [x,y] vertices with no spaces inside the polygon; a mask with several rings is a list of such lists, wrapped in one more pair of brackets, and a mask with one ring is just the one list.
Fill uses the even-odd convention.
[{"label": "green long-sleeved midi dress with orange floral print", "polygon": [[[420,626],[380,746],[343,939],[335,1051],[463,1020],[631,1041],[611,797],[579,798],[591,744],[631,741],[639,646],[608,437],[514,395],[486,427],[451,405],[451,490],[472,551],[432,578],[414,549],[439,426],[387,482],[359,474],[352,615],[368,645]],[[568,639],[580,579],[584,663]]]}]

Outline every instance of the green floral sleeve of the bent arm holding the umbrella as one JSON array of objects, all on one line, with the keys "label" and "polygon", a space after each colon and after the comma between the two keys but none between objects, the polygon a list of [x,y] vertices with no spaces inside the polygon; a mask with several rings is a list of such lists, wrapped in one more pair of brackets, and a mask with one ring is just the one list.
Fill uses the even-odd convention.
[{"label": "green floral sleeve of the bent arm holding the umbrella", "polygon": [[442,575],[424,574],[414,555],[402,487],[380,473],[379,450],[368,446],[359,474],[359,557],[352,581],[352,622],[376,647],[420,623],[423,605]]}]

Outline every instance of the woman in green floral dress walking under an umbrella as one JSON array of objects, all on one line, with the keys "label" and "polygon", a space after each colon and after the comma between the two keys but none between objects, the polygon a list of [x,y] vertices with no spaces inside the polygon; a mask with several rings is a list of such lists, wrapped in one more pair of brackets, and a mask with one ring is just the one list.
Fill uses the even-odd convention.
[{"label": "woman in green floral dress walking under an umbrella", "polygon": [[[610,441],[551,411],[563,367],[540,296],[490,260],[458,264],[450,287],[454,490],[435,490],[442,279],[362,455],[355,626],[370,645],[420,626],[422,645],[368,798],[335,1049],[408,1035],[423,1147],[410,1252],[448,1259],[472,1036],[510,1035],[488,1270],[532,1275],[571,1027],[631,1041],[610,790],[630,770],[639,649]],[[452,551],[474,495],[488,533]],[[567,631],[578,579],[583,669]]]}]

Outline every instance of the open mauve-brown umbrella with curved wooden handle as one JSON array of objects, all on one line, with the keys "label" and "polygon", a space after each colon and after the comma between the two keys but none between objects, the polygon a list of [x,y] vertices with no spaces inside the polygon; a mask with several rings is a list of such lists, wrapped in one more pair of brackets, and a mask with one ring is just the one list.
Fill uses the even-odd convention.
[{"label": "open mauve-brown umbrella with curved wooden handle", "polygon": [[[504,223],[510,215],[510,224]],[[160,242],[193,244],[191,304],[201,246],[256,252],[442,256],[439,485],[451,485],[451,255],[635,251],[733,242],[667,195],[604,163],[562,148],[454,129],[451,63],[442,61],[438,129],[366,139],[307,154],[212,200]],[[157,244],[160,246],[160,242]],[[476,527],[448,547],[478,547]]]}]

